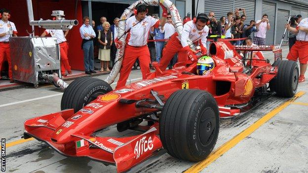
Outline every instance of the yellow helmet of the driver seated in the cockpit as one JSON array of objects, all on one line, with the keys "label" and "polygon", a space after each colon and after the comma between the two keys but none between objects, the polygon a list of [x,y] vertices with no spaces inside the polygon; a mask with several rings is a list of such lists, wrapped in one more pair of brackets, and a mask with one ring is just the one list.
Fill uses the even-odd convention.
[{"label": "yellow helmet of the driver seated in the cockpit", "polygon": [[198,59],[197,74],[206,75],[209,74],[215,67],[214,60],[210,56],[202,56]]}]

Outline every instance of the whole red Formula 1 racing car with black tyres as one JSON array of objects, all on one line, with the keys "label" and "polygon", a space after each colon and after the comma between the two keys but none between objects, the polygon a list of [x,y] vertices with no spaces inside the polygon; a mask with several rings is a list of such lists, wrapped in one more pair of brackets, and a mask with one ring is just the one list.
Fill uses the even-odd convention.
[{"label": "whole red Formula 1 racing car with black tyres", "polygon": [[[46,142],[65,156],[114,164],[118,172],[161,148],[179,159],[201,161],[216,144],[220,118],[246,112],[269,95],[292,97],[297,90],[295,62],[277,60],[271,65],[252,58],[252,65],[245,66],[245,59],[224,41],[212,43],[210,55],[215,68],[208,75],[197,75],[196,63],[188,61],[165,71],[156,66],[146,80],[116,91],[103,80],[79,78],[64,91],[62,111],[25,121],[24,138]],[[143,134],[93,135],[115,124],[119,132]]]}]

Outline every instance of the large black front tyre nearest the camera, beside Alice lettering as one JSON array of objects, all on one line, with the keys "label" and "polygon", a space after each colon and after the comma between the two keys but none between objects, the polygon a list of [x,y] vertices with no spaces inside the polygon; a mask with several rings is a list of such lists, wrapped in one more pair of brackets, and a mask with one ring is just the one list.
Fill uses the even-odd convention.
[{"label": "large black front tyre nearest the camera, beside Alice lettering", "polygon": [[204,160],[219,133],[219,111],[213,96],[201,90],[178,90],[164,104],[159,118],[163,148],[176,158]]}]

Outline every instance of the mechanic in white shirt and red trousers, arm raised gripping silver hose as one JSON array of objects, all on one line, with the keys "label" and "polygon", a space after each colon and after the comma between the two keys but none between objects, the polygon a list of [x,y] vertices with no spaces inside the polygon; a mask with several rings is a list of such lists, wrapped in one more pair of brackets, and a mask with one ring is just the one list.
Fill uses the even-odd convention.
[{"label": "mechanic in white shirt and red trousers, arm raised gripping silver hose", "polygon": [[[166,23],[167,9],[162,6],[163,13],[161,20],[154,19],[152,16],[146,16],[148,8],[144,4],[138,4],[135,9],[135,15],[128,18],[125,23],[125,30],[128,32],[126,37],[125,53],[123,57],[120,77],[116,88],[125,86],[131,68],[136,59],[139,59],[142,78],[150,73],[150,52],[147,46],[151,27],[157,28]],[[120,48],[122,42],[116,38],[116,47]]]}]

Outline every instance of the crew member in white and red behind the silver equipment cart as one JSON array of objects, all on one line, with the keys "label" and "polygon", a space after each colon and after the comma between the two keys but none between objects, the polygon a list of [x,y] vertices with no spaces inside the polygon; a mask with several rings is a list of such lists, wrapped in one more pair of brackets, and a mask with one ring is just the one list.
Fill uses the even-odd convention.
[{"label": "crew member in white and red behind the silver equipment cart", "polygon": [[[56,20],[61,20],[61,15],[56,16]],[[69,30],[63,33],[62,30],[45,30],[40,36],[46,36],[50,34],[52,37],[57,38],[57,41],[60,45],[60,56],[61,56],[61,74],[62,76],[67,76],[65,70],[68,71],[69,74],[72,74],[71,66],[68,59],[68,42],[66,40],[66,35],[68,35]]]}]

